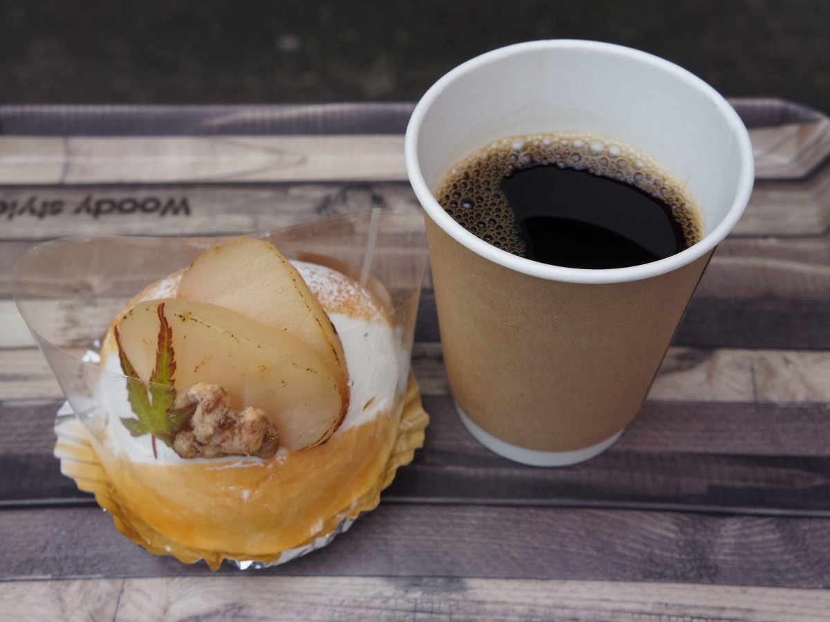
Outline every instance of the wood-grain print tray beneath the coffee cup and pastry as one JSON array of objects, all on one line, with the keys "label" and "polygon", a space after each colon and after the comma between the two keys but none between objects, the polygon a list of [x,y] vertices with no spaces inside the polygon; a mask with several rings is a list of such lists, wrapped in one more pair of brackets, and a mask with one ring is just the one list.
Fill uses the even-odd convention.
[{"label": "wood-grain print tray beneath the coffee cup and pastry", "polygon": [[[95,136],[71,110],[16,121],[50,130],[0,135],[0,620],[827,620],[830,125],[785,102],[735,105],[756,155],[749,208],[613,448],[539,469],[476,443],[455,414],[427,276],[413,350],[424,448],[349,533],[255,573],[149,555],[61,475],[61,389],[9,273],[66,235],[215,236],[417,210],[401,147],[411,106],[257,109],[256,122],[171,108],[168,125],[98,110]],[[0,107],[26,114],[44,115]],[[71,298],[32,312],[81,353],[123,303],[80,320]]]}]

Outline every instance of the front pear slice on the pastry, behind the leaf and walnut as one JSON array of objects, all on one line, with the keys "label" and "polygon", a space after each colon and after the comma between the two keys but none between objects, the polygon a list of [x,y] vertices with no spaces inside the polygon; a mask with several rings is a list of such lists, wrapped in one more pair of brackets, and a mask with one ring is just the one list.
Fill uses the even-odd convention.
[{"label": "front pear slice on the pastry, behind the leaf and walnut", "polygon": [[236,311],[169,298],[144,301],[120,322],[120,340],[136,373],[147,380],[155,362],[159,304],[173,333],[173,384],[227,389],[231,407],[263,409],[291,451],[329,438],[343,419],[339,386],[308,345],[287,331]]}]

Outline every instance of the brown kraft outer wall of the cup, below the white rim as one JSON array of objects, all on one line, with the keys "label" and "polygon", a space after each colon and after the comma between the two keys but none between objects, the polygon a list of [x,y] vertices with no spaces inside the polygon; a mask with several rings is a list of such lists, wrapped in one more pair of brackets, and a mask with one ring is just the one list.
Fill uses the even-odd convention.
[{"label": "brown kraft outer wall of the cup, below the white rim", "polygon": [[587,448],[631,422],[711,256],[639,281],[556,282],[426,223],[453,398],[487,433],[536,451]]}]

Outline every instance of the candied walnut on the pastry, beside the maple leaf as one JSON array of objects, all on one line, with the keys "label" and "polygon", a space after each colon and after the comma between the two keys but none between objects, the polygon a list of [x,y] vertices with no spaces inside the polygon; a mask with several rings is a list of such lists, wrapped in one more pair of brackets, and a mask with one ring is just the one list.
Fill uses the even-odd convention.
[{"label": "candied walnut on the pastry, beside the maple leaf", "polygon": [[182,458],[257,456],[271,458],[279,447],[279,434],[262,409],[248,407],[237,413],[227,391],[218,384],[198,382],[176,397],[173,408],[197,404],[188,426],[173,438]]}]

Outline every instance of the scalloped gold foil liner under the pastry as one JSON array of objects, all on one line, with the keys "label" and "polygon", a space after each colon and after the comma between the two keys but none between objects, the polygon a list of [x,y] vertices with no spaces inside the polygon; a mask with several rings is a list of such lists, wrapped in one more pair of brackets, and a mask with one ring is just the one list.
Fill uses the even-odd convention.
[{"label": "scalloped gold foil liner under the pastry", "polygon": [[[346,531],[362,512],[369,512],[378,506],[380,493],[395,478],[398,467],[412,462],[415,450],[423,446],[424,429],[429,423],[429,416],[421,403],[421,390],[412,373],[409,375],[407,393],[403,399],[397,438],[393,443],[386,467],[381,470],[374,487],[364,492],[348,507],[342,508],[321,526],[320,530],[283,551],[262,551],[253,556],[240,556],[233,551],[205,551],[186,546],[174,541],[163,533],[149,526],[133,512],[120,496],[119,490],[111,482],[101,459],[90,441],[90,433],[74,414],[67,410],[56,419],[55,457],[61,461],[61,473],[75,480],[77,487],[85,492],[95,494],[95,500],[106,512],[110,512],[118,530],[139,546],[156,555],[170,555],[184,563],[194,563],[203,559],[211,570],[217,570],[222,561],[231,561],[238,567],[260,568],[276,566],[291,561],[295,557],[315,551],[329,544],[334,536]],[[280,529],[275,525],[274,529]]]}]

